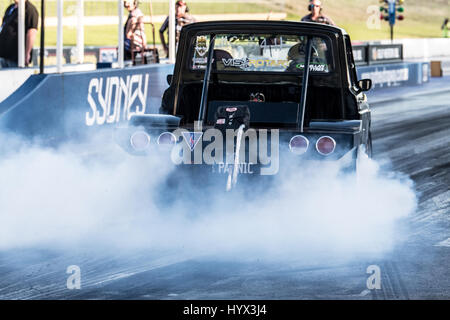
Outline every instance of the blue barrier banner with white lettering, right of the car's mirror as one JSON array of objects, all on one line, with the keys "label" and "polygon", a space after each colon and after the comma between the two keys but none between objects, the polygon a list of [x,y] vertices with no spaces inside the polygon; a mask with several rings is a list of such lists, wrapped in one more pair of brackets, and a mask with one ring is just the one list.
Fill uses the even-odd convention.
[{"label": "blue barrier banner with white lettering, right of the car's mirror", "polygon": [[357,68],[358,79],[372,79],[374,89],[420,85],[429,81],[428,62],[396,63]]}]

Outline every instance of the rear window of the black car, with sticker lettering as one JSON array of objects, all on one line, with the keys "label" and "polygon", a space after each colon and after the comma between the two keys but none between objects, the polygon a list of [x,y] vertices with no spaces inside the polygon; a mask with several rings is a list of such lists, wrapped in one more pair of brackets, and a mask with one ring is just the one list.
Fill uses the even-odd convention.
[{"label": "rear window of the black car, with sticker lettering", "polygon": [[[191,70],[204,70],[210,34],[197,34],[191,43]],[[234,72],[303,72],[307,37],[282,34],[218,34],[214,43],[214,70]],[[330,73],[331,44],[314,37],[310,70]]]}]

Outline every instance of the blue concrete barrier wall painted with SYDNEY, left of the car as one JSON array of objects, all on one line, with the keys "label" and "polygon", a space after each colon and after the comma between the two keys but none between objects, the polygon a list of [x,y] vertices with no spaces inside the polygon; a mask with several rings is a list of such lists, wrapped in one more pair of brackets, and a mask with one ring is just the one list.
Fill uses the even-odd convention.
[{"label": "blue concrete barrier wall painted with SYDNEY, left of the car", "polygon": [[0,103],[0,127],[28,137],[64,140],[155,113],[173,65],[32,75]]}]

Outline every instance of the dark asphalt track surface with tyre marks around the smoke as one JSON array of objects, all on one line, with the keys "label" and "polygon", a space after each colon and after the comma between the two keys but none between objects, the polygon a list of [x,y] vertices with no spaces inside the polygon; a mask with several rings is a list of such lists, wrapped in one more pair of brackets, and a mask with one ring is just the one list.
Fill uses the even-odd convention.
[{"label": "dark asphalt track surface with tyre marks around the smoke", "polygon": [[[450,299],[450,91],[372,105],[374,157],[410,176],[419,208],[382,260],[308,265],[171,252],[0,252],[0,299]],[[81,290],[66,268],[82,270]],[[378,265],[381,289],[368,290]]]}]

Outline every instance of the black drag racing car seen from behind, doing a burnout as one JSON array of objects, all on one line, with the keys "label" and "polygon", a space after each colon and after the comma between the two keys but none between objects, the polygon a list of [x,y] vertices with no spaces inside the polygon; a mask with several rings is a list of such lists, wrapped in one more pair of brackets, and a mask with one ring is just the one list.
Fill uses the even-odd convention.
[{"label": "black drag racing car seen from behind, doing a burnout", "polygon": [[[134,116],[120,144],[170,148],[194,175],[276,175],[292,163],[357,160],[372,152],[370,109],[348,34],[323,24],[213,21],[183,27],[158,115]],[[170,161],[168,159],[168,161]],[[344,162],[343,162],[344,163]]]}]

